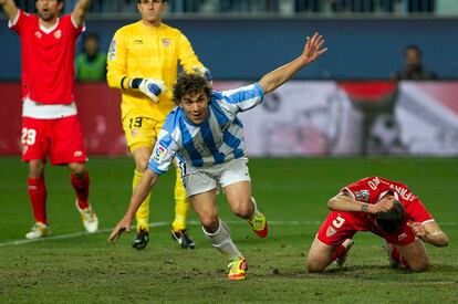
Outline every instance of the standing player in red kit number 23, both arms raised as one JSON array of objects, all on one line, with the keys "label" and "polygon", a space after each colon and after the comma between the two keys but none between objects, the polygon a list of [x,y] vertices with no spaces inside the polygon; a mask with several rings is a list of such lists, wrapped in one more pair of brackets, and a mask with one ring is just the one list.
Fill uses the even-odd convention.
[{"label": "standing player in red kit number 23, both arms raised", "polygon": [[61,18],[63,0],[37,0],[38,15],[18,9],[13,0],[0,0],[0,4],[21,40],[22,160],[29,163],[27,182],[35,218],[25,237],[50,233],[44,182],[48,155],[52,165],[69,165],[76,208],[85,229],[95,232],[98,220],[89,205],[86,151],[73,96],[75,41],[84,30],[91,0],[77,1],[73,12]]}]

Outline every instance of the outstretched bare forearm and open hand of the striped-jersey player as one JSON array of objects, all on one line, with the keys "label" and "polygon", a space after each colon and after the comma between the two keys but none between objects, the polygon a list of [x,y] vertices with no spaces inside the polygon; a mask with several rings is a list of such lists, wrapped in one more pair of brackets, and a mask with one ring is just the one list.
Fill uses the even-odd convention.
[{"label": "outstretched bare forearm and open hand of the striped-jersey player", "polygon": [[302,54],[295,60],[287,63],[283,66],[266,74],[259,84],[262,86],[264,94],[274,91],[277,87],[288,82],[295,73],[301,71],[305,65],[315,61],[321,54],[327,51],[327,48],[322,49],[324,39],[321,34],[315,33],[312,38],[306,38],[306,43]]}]

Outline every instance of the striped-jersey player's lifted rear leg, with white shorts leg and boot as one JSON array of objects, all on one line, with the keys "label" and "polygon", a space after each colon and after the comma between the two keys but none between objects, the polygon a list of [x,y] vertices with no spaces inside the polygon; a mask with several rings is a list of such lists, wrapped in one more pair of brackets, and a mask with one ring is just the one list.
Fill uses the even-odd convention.
[{"label": "striped-jersey player's lifted rear leg, with white shorts leg and boot", "polygon": [[225,165],[219,176],[225,188],[226,197],[232,212],[247,219],[251,229],[261,238],[266,238],[269,226],[264,214],[258,210],[257,202],[251,196],[251,179],[246,159],[235,159]]}]

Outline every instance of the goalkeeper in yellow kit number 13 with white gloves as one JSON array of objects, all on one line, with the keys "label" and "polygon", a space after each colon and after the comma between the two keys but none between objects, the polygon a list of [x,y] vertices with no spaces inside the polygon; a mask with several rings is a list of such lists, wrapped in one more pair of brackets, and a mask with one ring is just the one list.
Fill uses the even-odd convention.
[{"label": "goalkeeper in yellow kit number 13 with white gloves", "polygon": [[[121,112],[127,146],[135,160],[134,188],[147,168],[165,118],[175,106],[171,86],[177,77],[178,61],[186,72],[211,81],[187,38],[162,23],[166,7],[166,0],[138,0],[142,20],[117,30],[107,54],[108,85],[123,93]],[[149,200],[148,196],[136,213],[137,235],[132,245],[137,250],[149,241]],[[178,168],[175,200],[171,237],[181,248],[194,249],[195,243],[186,232],[189,203]]]}]

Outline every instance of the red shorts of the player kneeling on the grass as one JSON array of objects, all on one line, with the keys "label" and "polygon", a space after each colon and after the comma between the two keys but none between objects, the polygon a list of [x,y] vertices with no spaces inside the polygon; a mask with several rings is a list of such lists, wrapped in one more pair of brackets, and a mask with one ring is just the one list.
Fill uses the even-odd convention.
[{"label": "red shorts of the player kneeling on the grass", "polygon": [[407,245],[415,241],[414,231],[405,223],[395,233],[384,233],[374,224],[367,213],[332,211],[321,224],[318,239],[329,245],[339,245],[346,239],[353,239],[357,231],[371,231],[384,238],[388,243]]}]

